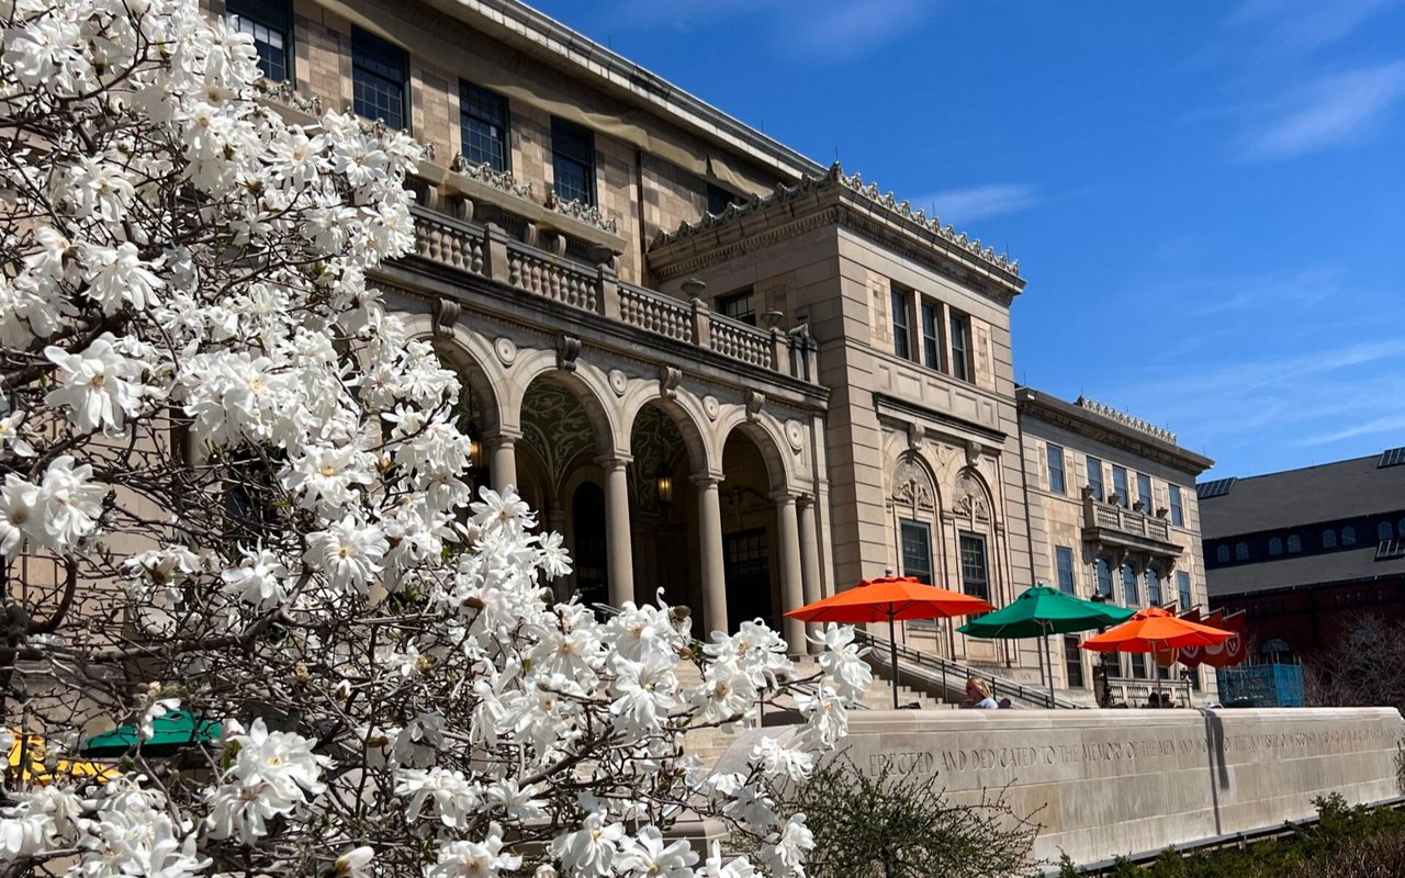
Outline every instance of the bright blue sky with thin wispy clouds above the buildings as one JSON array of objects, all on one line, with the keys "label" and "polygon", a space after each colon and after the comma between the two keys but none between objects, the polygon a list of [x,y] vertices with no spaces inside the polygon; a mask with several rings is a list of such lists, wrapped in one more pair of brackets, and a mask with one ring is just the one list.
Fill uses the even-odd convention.
[{"label": "bright blue sky with thin wispy clouds above the buildings", "polygon": [[1405,445],[1405,1],[538,7],[1007,247],[1019,381],[1213,475]]}]

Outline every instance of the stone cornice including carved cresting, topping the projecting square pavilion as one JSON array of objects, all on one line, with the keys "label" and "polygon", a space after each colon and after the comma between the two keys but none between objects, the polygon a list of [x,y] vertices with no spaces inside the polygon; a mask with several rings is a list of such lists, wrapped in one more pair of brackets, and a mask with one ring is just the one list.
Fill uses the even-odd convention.
[{"label": "stone cornice including carved cresting, topping the projecting square pavilion", "polygon": [[823,225],[840,225],[1009,306],[1024,289],[1019,261],[969,240],[950,225],[913,211],[892,192],[847,176],[839,163],[822,177],[777,185],[764,197],[729,205],[697,223],[660,232],[649,244],[649,267],[669,280],[725,263]]}]

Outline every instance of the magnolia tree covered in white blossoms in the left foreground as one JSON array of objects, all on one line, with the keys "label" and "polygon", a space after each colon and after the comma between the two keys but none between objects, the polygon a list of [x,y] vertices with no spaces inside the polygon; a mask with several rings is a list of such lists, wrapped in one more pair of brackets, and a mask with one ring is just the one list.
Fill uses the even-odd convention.
[{"label": "magnolia tree covered in white blossoms in the left foreground", "polygon": [[[194,0],[0,18],[0,694],[49,749],[10,771],[0,874],[802,874],[764,789],[843,735],[849,632],[798,680],[760,625],[700,646],[552,598],[561,538],[473,502],[455,376],[365,280],[412,244],[419,149],[284,122]],[[745,770],[686,754],[783,697]],[[222,733],[53,764],[174,709]],[[681,816],[756,853],[700,858]]]}]

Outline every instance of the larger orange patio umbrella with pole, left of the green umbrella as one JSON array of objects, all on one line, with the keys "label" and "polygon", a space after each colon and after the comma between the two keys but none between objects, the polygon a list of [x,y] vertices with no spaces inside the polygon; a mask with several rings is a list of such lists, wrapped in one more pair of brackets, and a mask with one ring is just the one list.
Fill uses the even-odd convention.
[{"label": "larger orange patio umbrella with pole, left of the green umbrella", "polygon": [[950,591],[917,582],[916,576],[865,579],[854,589],[832,594],[785,615],[802,622],[888,622],[892,649],[892,707],[898,707],[898,620],[940,620],[995,610],[971,594]]}]

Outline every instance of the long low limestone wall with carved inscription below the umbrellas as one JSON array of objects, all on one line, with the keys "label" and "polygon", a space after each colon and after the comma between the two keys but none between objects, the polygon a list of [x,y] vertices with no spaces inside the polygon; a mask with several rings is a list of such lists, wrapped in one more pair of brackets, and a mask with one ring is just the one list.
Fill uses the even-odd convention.
[{"label": "long low limestone wall with carved inscription below the umbrellas", "polygon": [[[733,770],[759,735],[718,763]],[[1035,854],[1075,863],[1279,826],[1312,799],[1401,794],[1394,708],[1262,711],[875,711],[854,714],[849,754],[863,771],[936,773],[953,801],[1009,785],[1044,826]]]}]

